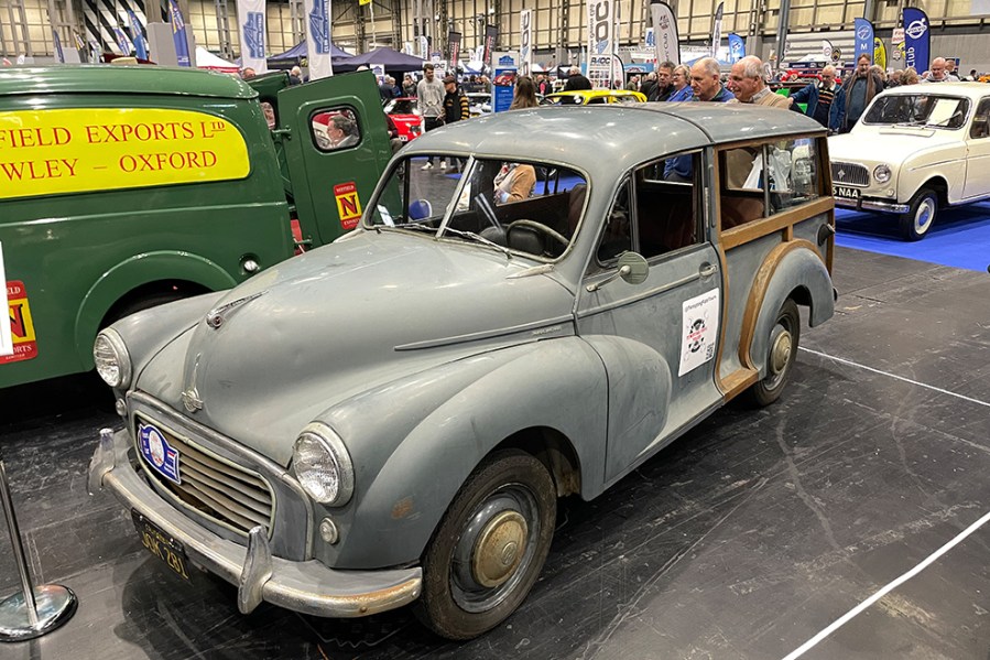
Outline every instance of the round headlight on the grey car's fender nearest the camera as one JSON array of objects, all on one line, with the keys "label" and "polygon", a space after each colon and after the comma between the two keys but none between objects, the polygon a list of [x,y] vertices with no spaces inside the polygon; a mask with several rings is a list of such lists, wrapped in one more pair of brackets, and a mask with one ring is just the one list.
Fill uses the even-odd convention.
[{"label": "round headlight on the grey car's fender nearest the camera", "polygon": [[339,507],[350,500],[353,465],[344,442],[326,424],[314,422],[303,429],[292,451],[292,470],[316,501]]}]

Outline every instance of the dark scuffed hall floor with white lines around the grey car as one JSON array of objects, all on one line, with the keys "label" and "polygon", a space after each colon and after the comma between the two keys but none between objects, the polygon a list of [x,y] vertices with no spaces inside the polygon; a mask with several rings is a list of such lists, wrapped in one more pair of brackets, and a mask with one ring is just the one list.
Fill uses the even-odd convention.
[{"label": "dark scuffed hall floor with white lines around the grey car", "polygon": [[[838,313],[805,328],[782,401],[730,404],[599,499],[563,500],[529,599],[463,645],[409,609],[241,616],[232,587],[173,577],[86,494],[116,423],[87,387],[3,392],[31,564],[79,610],[0,658],[784,658],[990,511],[990,275],[840,249],[835,279]],[[987,659],[988,544],[990,524],[802,657]],[[2,538],[0,596],[17,585]]]}]

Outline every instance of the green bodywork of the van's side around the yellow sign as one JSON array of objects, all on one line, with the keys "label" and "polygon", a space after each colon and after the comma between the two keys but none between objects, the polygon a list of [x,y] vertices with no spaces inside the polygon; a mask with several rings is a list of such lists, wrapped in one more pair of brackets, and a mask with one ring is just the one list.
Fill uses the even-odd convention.
[{"label": "green bodywork of the van's side around the yellow sign", "polygon": [[[89,344],[97,326],[115,303],[142,285],[182,281],[197,292],[216,290],[248,279],[247,260],[264,269],[292,256],[289,206],[257,100],[197,97],[182,89],[157,95],[0,95],[0,115],[39,108],[75,110],[85,126],[94,127],[110,123],[115,108],[204,113],[227,126],[225,130],[239,131],[250,167],[242,178],[227,181],[116,190],[118,182],[111,182],[111,190],[0,201],[6,274],[8,281],[23,283],[35,349],[26,359],[0,358],[0,388],[90,368]],[[122,136],[120,130],[116,134]],[[18,150],[4,147],[0,161],[10,162]],[[133,162],[152,164],[161,159],[149,154],[173,148],[152,140],[118,147]],[[127,184],[126,174],[120,173],[119,185]],[[0,190],[12,185],[0,171]],[[23,333],[29,329],[24,323],[12,325]]]}]

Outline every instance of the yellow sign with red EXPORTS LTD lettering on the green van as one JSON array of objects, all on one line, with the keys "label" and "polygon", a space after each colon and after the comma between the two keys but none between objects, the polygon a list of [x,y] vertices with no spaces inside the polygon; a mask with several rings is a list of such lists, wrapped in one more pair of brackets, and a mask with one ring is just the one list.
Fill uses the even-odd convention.
[{"label": "yellow sign with red EXPORTS LTD lettering on the green van", "polygon": [[164,108],[0,112],[0,199],[243,178],[244,138],[222,117]]}]

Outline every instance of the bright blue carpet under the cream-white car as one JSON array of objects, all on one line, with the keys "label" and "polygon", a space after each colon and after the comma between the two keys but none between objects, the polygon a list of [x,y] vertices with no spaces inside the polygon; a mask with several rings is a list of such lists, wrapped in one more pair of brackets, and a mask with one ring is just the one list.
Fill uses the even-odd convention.
[{"label": "bright blue carpet under the cream-white car", "polygon": [[836,245],[966,270],[990,264],[990,202],[943,209],[918,241],[901,238],[896,216],[836,208]]}]

